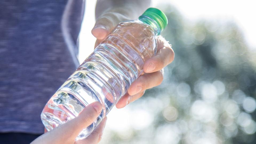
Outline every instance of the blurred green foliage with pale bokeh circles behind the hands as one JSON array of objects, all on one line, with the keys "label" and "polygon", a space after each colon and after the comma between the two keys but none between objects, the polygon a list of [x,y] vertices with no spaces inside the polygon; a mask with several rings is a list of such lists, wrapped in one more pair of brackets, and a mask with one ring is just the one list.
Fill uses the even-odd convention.
[{"label": "blurred green foliage with pale bokeh circles behind the hands", "polygon": [[256,143],[256,54],[242,31],[234,21],[191,22],[171,5],[159,9],[175,59],[163,83],[130,105],[154,120],[125,138],[109,131],[102,143]]}]

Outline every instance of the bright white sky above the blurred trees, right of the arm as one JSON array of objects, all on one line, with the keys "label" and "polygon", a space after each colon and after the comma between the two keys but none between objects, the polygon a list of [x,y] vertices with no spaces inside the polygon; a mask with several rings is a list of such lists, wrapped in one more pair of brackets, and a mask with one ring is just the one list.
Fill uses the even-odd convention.
[{"label": "bright white sky above the blurred trees, right of the arm", "polygon": [[[165,0],[153,0],[153,5]],[[234,19],[244,31],[245,39],[251,49],[256,49],[256,1],[243,0],[169,0],[190,20]]]}]

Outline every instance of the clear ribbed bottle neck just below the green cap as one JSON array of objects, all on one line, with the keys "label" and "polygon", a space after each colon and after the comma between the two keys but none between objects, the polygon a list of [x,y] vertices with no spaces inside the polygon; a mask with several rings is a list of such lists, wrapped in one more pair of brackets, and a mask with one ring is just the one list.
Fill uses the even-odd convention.
[{"label": "clear ribbed bottle neck just below the green cap", "polygon": [[160,26],[154,19],[152,19],[146,15],[141,15],[139,17],[139,20],[142,21],[143,23],[145,23],[146,25],[153,27],[155,30],[155,34],[160,35],[160,33],[161,33]]}]

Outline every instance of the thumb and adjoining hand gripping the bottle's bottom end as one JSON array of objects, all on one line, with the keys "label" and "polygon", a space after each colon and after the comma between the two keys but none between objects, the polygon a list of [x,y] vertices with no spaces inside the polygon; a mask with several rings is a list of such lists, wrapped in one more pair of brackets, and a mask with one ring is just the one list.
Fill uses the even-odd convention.
[{"label": "thumb and adjoining hand gripping the bottle's bottom end", "polygon": [[78,134],[87,126],[91,125],[102,111],[102,104],[93,102],[86,106],[77,117],[55,127],[53,130],[35,139],[34,143],[74,143]]}]

